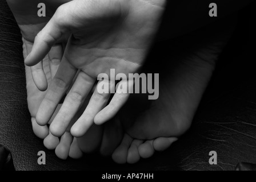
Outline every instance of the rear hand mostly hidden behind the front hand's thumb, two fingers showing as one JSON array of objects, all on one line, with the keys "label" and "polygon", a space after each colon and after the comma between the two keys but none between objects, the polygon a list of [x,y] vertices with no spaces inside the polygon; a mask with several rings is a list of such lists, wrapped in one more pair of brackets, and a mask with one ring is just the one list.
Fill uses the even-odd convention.
[{"label": "rear hand mostly hidden behind the front hand's thumb, two fingers showing", "polygon": [[[19,28],[21,28],[21,34],[24,44],[23,48],[26,49],[26,53],[30,53],[35,36],[38,34],[39,31],[42,30],[43,27],[45,27],[51,16],[53,16],[55,10],[63,3],[69,1],[70,0],[7,0],[7,3],[15,19],[17,20],[18,26]],[[45,3],[46,5],[46,17],[39,17],[37,15],[37,5],[41,2]],[[49,59],[49,67],[52,77],[57,72],[62,55],[63,49],[61,44],[53,46],[47,55],[47,58]],[[46,90],[47,78],[45,76],[45,72],[43,72],[42,61],[39,61],[38,64],[31,67],[31,74],[37,88],[42,91]]]}]

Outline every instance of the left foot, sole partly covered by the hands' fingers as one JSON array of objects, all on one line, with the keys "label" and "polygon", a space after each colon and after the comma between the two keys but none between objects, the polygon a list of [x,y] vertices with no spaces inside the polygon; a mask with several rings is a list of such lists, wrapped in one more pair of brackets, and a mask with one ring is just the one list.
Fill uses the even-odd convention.
[{"label": "left foot, sole partly covered by the hands' fingers", "polygon": [[[23,41],[25,41],[23,39]],[[24,57],[27,55],[27,51],[30,51],[30,44],[29,42],[26,42],[23,44],[23,54]],[[43,59],[43,67],[44,71],[46,73],[48,84],[51,82],[51,76],[50,68],[49,68],[49,59],[48,57],[45,57]],[[57,109],[55,110],[55,113],[53,117],[50,119],[49,125],[40,126],[35,120],[35,114],[37,113],[38,107],[41,104],[43,98],[45,97],[46,92],[41,92],[38,90],[37,86],[34,84],[32,75],[31,75],[31,69],[29,67],[26,67],[26,87],[27,87],[27,103],[29,106],[29,111],[31,114],[31,122],[34,134],[38,137],[43,139],[43,144],[46,148],[49,150],[55,150],[55,154],[60,159],[66,159],[68,156],[74,159],[81,158],[83,153],[81,149],[78,147],[79,139],[74,138],[70,134],[70,128],[73,125],[74,121],[77,121],[79,116],[82,114],[81,111],[75,115],[73,118],[73,122],[71,122],[70,126],[67,128],[65,134],[62,135],[62,137],[59,139],[58,137],[55,137],[53,134],[49,132],[49,126],[51,121],[53,121],[55,115],[58,113],[59,108],[61,107],[61,104],[58,105]],[[81,107],[81,110],[84,110],[87,103]],[[91,127],[88,131],[88,134],[83,137],[85,141],[85,145],[87,146],[85,152],[92,152],[97,147],[97,143],[99,144],[101,142],[101,126],[95,126]],[[91,136],[94,135],[94,140],[88,140],[92,138]],[[97,136],[100,137],[97,137]]]}]

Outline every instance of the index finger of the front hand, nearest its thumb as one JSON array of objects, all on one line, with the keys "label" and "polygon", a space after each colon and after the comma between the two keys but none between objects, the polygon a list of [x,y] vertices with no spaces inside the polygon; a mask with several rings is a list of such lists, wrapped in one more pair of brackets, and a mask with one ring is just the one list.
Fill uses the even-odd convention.
[{"label": "index finger of the front hand, nearest its thumb", "polygon": [[59,69],[51,81],[45,98],[39,106],[36,115],[36,121],[39,125],[46,125],[49,122],[76,73],[77,69],[63,56]]}]

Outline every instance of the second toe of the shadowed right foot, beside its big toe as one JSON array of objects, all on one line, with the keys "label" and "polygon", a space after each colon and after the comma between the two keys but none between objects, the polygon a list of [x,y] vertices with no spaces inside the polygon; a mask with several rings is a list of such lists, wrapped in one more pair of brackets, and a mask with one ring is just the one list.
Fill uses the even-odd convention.
[{"label": "second toe of the shadowed right foot, beside its big toe", "polygon": [[127,162],[128,149],[130,147],[133,138],[125,134],[121,144],[115,149],[112,154],[112,159],[118,164],[124,164]]}]

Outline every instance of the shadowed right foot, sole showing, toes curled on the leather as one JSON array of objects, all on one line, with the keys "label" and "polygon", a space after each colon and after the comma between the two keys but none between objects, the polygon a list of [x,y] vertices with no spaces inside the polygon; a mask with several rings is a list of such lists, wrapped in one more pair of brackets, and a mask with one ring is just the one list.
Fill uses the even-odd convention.
[{"label": "shadowed right foot, sole showing, toes curled on the leather", "polygon": [[[159,61],[165,60],[160,69],[148,63],[159,73],[159,98],[147,100],[147,96],[133,94],[119,113],[117,119],[125,134],[117,148],[117,138],[109,146],[110,150],[115,148],[112,158],[116,163],[149,158],[155,151],[166,150],[189,129],[218,55],[233,30],[233,24],[220,24],[176,39],[168,48],[162,47],[171,55],[158,57]],[[102,142],[102,146],[106,145]]]}]

